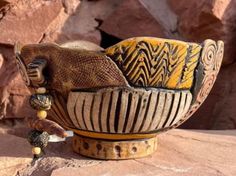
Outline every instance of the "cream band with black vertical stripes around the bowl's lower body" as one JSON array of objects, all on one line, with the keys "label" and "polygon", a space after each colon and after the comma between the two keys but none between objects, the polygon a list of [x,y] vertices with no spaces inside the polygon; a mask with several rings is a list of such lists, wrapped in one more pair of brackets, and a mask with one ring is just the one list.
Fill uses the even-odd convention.
[{"label": "cream band with black vertical stripes around the bowl's lower body", "polygon": [[71,92],[67,110],[73,125],[80,130],[155,133],[176,124],[191,102],[189,90],[104,88],[96,92]]}]

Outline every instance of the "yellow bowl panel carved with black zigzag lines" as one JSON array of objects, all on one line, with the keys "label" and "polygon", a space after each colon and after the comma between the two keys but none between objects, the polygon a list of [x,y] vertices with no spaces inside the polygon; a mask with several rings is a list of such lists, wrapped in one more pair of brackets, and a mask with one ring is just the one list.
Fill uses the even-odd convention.
[{"label": "yellow bowl panel carved with black zigzag lines", "polygon": [[190,89],[202,47],[177,40],[137,37],[105,50],[135,86]]}]

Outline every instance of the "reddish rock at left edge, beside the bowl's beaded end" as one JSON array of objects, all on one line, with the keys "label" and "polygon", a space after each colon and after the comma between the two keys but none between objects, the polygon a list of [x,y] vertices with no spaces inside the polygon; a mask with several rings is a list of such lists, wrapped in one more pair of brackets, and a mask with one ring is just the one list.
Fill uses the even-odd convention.
[{"label": "reddish rock at left edge, beside the bowl's beaded end", "polygon": [[0,118],[30,117],[29,91],[16,68],[13,48],[0,45]]}]

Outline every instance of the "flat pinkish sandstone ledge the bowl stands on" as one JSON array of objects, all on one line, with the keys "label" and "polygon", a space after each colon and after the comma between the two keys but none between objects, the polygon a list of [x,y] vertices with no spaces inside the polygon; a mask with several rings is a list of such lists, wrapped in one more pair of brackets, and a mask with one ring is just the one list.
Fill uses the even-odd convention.
[{"label": "flat pinkish sandstone ledge the bowl stands on", "polygon": [[235,130],[171,130],[158,136],[158,149],[153,155],[123,161],[82,157],[72,151],[71,140],[67,139],[66,142],[49,143],[46,155],[35,163],[31,163],[31,147],[27,141],[6,132],[7,128],[1,126],[1,176],[236,174]]}]

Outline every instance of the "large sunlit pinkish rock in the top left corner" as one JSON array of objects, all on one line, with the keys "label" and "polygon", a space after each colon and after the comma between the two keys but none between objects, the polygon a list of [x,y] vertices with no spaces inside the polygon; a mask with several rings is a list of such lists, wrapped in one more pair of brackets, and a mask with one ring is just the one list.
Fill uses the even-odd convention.
[{"label": "large sunlit pinkish rock in the top left corner", "polygon": [[13,2],[10,10],[0,20],[0,43],[40,41],[61,8],[62,4],[58,0]]}]

